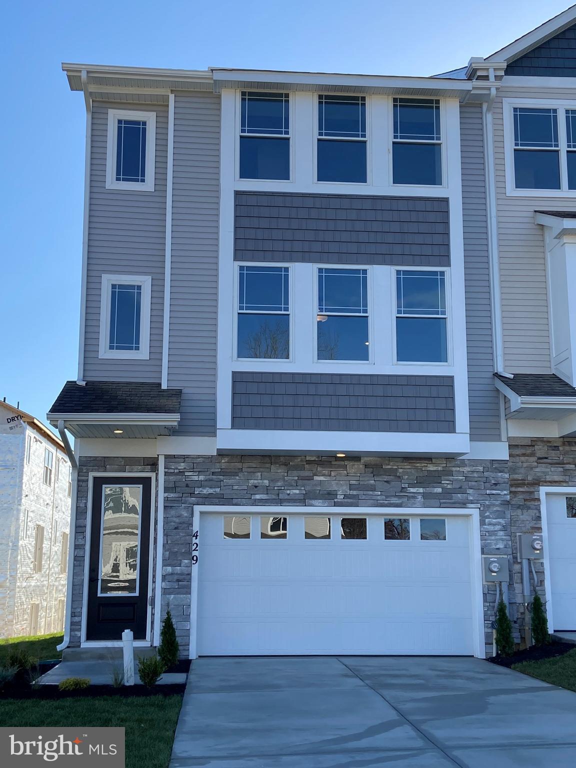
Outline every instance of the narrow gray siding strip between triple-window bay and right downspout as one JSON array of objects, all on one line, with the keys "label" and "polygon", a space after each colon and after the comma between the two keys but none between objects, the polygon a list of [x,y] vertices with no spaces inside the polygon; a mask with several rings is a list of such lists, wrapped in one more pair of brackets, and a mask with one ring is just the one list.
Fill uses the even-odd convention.
[{"label": "narrow gray siding strip between triple-window bay and right downspout", "polygon": [[494,386],[482,107],[460,109],[470,439],[500,440]]}]

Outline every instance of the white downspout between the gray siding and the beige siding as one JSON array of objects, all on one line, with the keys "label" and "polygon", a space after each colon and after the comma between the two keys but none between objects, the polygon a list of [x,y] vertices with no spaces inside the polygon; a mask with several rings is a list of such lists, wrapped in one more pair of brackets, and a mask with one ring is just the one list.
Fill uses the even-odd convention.
[{"label": "white downspout between the gray siding and the beige siding", "polygon": [[[491,82],[495,81],[494,68],[488,70]],[[488,259],[490,261],[490,301],[492,304],[492,344],[494,347],[495,372],[511,378],[504,370],[504,341],[502,339],[502,297],[500,293],[500,263],[498,260],[498,211],[496,208],[496,180],[494,164],[494,123],[492,107],[496,98],[496,87],[492,85],[488,102],[482,104],[482,118],[485,135],[485,177],[486,203],[488,207]]]}]

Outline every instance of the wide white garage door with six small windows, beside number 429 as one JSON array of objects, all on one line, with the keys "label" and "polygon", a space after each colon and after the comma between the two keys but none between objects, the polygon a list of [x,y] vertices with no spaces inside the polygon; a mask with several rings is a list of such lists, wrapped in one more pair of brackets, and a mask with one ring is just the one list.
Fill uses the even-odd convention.
[{"label": "wide white garage door with six small windows, beside number 429", "polygon": [[203,514],[197,652],[473,654],[469,525]]}]

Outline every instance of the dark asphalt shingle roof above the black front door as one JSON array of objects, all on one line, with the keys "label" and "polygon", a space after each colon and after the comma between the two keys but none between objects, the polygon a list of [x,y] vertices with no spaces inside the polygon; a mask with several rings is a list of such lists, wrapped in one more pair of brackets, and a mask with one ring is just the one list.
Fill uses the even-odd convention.
[{"label": "dark asphalt shingle roof above the black front door", "polygon": [[66,382],[50,413],[180,413],[181,389],[147,382]]}]

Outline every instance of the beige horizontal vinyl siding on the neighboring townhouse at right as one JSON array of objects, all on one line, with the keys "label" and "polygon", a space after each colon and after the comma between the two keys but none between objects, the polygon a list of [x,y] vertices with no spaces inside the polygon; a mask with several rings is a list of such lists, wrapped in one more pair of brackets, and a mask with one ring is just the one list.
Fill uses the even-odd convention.
[{"label": "beige horizontal vinyl siding on the neighboring townhouse at right", "polygon": [[[576,210],[574,198],[507,197],[502,98],[576,99],[576,88],[528,91],[503,85],[494,103],[498,250],[502,291],[505,368],[511,373],[549,373],[550,336],[545,246],[535,210]],[[511,151],[511,147],[508,147]]]}]

